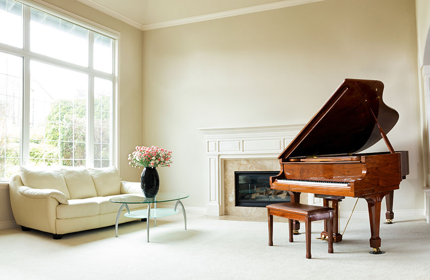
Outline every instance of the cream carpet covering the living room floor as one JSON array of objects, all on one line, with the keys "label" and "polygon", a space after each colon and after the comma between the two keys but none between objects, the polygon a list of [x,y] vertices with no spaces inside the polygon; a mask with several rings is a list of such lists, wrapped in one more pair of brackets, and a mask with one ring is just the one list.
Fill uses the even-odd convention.
[{"label": "cream carpet covering the living room floor", "polygon": [[424,219],[381,224],[383,255],[368,253],[367,219],[353,217],[334,254],[315,239],[322,223],[313,222],[312,259],[305,258],[305,235],[288,243],[287,229],[288,223],[275,222],[269,247],[267,222],[211,219],[195,210],[188,211],[188,230],[182,214],[159,218],[150,243],[141,221],[119,225],[118,238],[113,226],[61,240],[4,229],[0,279],[430,279],[430,225]]}]

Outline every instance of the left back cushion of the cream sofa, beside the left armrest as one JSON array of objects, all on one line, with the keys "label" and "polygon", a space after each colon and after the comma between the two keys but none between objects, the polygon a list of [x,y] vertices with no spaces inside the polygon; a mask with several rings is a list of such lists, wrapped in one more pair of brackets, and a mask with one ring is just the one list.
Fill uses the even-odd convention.
[{"label": "left back cushion of the cream sofa, beside the left armrest", "polygon": [[62,192],[67,199],[70,193],[66,186],[66,181],[61,174],[60,168],[40,167],[26,168],[21,166],[19,169],[21,180],[26,186],[34,189],[53,189]]}]

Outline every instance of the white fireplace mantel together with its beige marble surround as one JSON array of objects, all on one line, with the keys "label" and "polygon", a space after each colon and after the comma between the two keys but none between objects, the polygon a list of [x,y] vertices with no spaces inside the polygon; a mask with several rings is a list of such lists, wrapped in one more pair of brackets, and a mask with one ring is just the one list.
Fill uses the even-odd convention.
[{"label": "white fireplace mantel together with its beige marble surround", "polygon": [[[304,124],[293,124],[199,128],[206,144],[206,188],[208,191],[206,215],[261,216],[264,208],[261,210],[251,209],[257,207],[234,206],[234,194],[232,201],[230,191],[231,182],[233,182],[234,188],[234,171],[279,170],[277,157],[304,126]],[[246,165],[249,165],[249,168]],[[234,170],[235,168],[238,169]],[[228,186],[227,189],[225,189],[225,185]],[[317,203],[312,194],[308,194],[307,202],[308,204]]]}]

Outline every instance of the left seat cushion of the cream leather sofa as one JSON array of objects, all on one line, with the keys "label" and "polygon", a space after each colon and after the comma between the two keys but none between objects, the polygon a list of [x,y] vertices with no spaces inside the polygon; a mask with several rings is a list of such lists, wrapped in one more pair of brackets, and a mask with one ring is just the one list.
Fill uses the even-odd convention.
[{"label": "left seat cushion of the cream leather sofa", "polygon": [[95,216],[100,213],[96,198],[69,199],[69,204],[57,206],[57,219]]}]

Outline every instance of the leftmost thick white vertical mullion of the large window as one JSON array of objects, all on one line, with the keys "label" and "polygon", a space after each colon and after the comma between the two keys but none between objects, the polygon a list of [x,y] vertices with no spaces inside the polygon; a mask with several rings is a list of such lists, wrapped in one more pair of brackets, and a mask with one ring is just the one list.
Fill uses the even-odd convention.
[{"label": "leftmost thick white vertical mullion of the large window", "polygon": [[[30,8],[24,5],[24,51],[30,50]],[[21,165],[27,165],[30,157],[30,58],[24,55],[23,70],[23,114],[22,114],[22,140]]]}]

